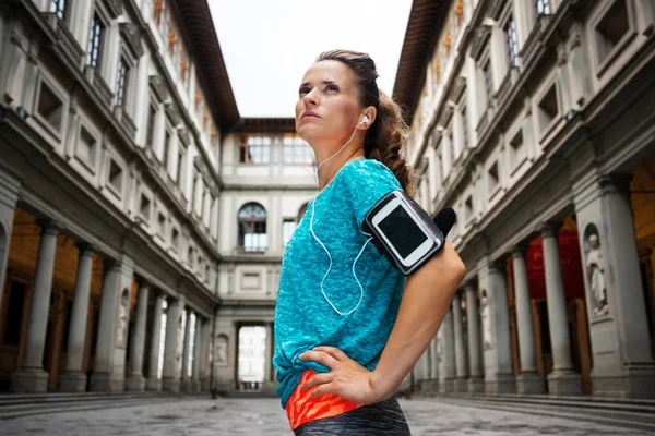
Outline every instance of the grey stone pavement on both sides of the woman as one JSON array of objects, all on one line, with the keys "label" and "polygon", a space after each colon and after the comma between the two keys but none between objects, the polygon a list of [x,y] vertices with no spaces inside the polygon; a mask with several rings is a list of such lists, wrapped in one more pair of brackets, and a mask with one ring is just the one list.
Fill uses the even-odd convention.
[{"label": "grey stone pavement on both sides of the woman", "polygon": [[[412,434],[645,435],[549,416],[529,416],[433,401],[401,400]],[[291,435],[274,399],[182,400],[175,403],[41,414],[0,421],[0,435]]]}]

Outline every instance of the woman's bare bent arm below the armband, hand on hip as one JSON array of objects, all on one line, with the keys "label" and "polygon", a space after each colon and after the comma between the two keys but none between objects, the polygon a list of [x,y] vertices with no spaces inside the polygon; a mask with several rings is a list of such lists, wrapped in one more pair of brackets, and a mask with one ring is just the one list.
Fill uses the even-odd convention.
[{"label": "woman's bare bent arm below the armband, hand on hip", "polygon": [[370,404],[391,397],[437,335],[465,274],[464,263],[450,242],[407,278],[396,322],[374,371],[370,372],[334,347],[317,347],[300,359],[317,361],[331,371],[317,374],[302,388],[312,397],[336,393]]}]

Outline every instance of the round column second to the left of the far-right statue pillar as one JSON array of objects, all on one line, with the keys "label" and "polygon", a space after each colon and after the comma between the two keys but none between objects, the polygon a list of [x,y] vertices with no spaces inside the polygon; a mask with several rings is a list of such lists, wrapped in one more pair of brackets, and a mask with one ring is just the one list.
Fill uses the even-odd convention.
[{"label": "round column second to the left of the far-right statue pillar", "polygon": [[546,386],[544,385],[544,378],[537,374],[535,359],[535,335],[525,247],[515,246],[512,250],[512,265],[514,268],[516,328],[519,330],[519,353],[521,358],[521,374],[516,377],[516,392],[544,393]]}]

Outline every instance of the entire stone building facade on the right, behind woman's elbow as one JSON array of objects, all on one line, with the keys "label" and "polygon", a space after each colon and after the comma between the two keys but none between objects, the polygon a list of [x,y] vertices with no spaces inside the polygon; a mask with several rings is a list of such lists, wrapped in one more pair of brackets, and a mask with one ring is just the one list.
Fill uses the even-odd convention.
[{"label": "entire stone building facade on the right, behind woman's elbow", "polygon": [[654,29],[650,0],[414,2],[394,96],[467,266],[417,386],[655,395]]}]

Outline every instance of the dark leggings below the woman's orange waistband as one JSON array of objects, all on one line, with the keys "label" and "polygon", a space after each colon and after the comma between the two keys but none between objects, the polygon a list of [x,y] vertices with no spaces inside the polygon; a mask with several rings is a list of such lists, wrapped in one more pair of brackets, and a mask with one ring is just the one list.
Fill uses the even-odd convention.
[{"label": "dark leggings below the woman's orange waistband", "polygon": [[401,404],[391,397],[341,415],[310,421],[294,432],[296,436],[412,436]]}]

